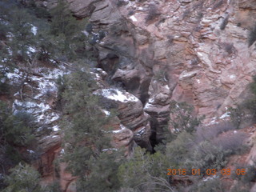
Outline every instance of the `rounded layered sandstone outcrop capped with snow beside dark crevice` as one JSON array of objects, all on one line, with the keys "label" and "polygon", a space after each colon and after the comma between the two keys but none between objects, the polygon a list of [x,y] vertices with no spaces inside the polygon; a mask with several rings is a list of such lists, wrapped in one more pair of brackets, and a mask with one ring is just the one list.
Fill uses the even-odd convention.
[{"label": "rounded layered sandstone outcrop capped with snow beside dark crevice", "polygon": [[121,130],[114,130],[114,137],[118,135],[122,138],[124,133],[126,133],[127,137],[127,134],[131,135],[129,130],[132,130],[134,141],[139,146],[152,150],[150,145],[149,115],[143,111],[142,102],[138,98],[133,94],[117,89],[97,90],[95,94],[101,95],[102,99],[106,100],[107,105],[111,104],[110,108],[116,107],[122,126]]}]

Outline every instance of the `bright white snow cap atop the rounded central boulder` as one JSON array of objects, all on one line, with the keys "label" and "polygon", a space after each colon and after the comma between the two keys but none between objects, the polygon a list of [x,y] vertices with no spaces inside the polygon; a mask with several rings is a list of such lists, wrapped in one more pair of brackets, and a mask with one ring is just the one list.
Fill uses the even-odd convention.
[{"label": "bright white snow cap atop the rounded central boulder", "polygon": [[94,94],[100,94],[105,98],[110,100],[118,101],[118,102],[138,102],[138,98],[136,98],[133,94],[129,94],[127,92],[123,92],[118,89],[102,89],[97,90]]}]

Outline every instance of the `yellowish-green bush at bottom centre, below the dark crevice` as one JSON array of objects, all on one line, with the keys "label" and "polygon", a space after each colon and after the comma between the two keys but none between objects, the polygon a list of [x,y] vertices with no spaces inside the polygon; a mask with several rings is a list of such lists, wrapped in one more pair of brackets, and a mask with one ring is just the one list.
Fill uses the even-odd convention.
[{"label": "yellowish-green bush at bottom centre, below the dark crevice", "polygon": [[148,154],[137,147],[134,157],[119,166],[118,178],[125,189],[138,191],[171,190],[166,176],[166,167],[170,167],[166,157],[157,152]]}]

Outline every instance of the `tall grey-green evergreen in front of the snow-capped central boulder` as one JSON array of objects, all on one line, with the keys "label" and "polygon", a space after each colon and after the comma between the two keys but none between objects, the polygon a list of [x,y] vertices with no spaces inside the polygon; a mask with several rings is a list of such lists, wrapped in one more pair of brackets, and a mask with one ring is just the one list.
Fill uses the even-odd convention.
[{"label": "tall grey-green evergreen in front of the snow-capped central boulder", "polygon": [[[62,99],[66,103],[63,119],[65,154],[68,170],[79,176],[78,191],[114,191],[119,161],[110,145],[106,118],[91,94],[95,82],[86,72],[77,71],[62,82]],[[90,190],[89,190],[90,189]]]}]

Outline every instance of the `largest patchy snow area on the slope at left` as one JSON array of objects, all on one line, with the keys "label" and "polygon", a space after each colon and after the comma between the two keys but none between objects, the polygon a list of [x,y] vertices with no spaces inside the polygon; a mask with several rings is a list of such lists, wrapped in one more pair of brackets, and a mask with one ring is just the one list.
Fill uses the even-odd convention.
[{"label": "largest patchy snow area on the slope at left", "polygon": [[[66,70],[64,66],[60,66],[58,69],[46,67],[33,69],[33,72],[28,76],[27,82],[24,83],[24,87],[29,87],[28,90],[32,90],[32,94],[23,92],[22,101],[19,92],[14,94],[14,97],[16,98],[13,102],[14,113],[17,113],[20,110],[31,113],[36,122],[52,127],[52,130],[54,131],[58,131],[58,126],[52,126],[51,124],[58,121],[60,114],[52,109],[48,100],[49,98],[54,99],[57,96],[58,86],[56,84],[56,79],[59,76],[69,73],[70,71]],[[18,79],[20,82],[21,79],[23,79],[23,77],[20,77],[20,74],[21,72],[15,69],[14,73],[7,74],[7,78],[11,79],[10,82],[16,81],[15,79]]]}]

